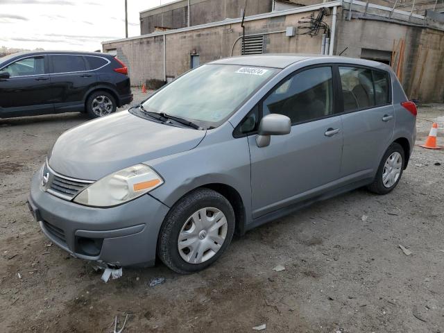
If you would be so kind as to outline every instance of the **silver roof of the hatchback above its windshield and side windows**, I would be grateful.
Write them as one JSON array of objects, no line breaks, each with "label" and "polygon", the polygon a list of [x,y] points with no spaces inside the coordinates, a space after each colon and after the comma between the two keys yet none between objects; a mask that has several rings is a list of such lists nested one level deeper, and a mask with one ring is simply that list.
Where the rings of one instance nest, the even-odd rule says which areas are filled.
[{"label": "silver roof of the hatchback above its windshield and side windows", "polygon": [[302,53],[278,53],[278,54],[268,53],[268,54],[257,54],[252,56],[235,56],[231,58],[215,60],[213,62],[210,62],[210,64],[274,67],[274,68],[284,69],[285,67],[289,67],[290,65],[293,65],[294,63],[300,62],[302,60],[315,60],[319,64],[334,62],[334,63],[354,64],[354,65],[362,65],[362,66],[378,67],[378,68],[384,67],[384,69],[388,69],[387,65],[384,65],[381,62],[376,62],[373,60],[348,58],[340,56],[323,56],[320,54],[302,54]]}]

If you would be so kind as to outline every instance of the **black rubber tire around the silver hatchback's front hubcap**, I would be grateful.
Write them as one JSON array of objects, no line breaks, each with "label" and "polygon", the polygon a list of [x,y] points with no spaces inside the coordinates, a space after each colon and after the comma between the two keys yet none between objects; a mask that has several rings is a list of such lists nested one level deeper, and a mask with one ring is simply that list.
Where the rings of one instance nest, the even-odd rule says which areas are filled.
[{"label": "black rubber tire around the silver hatchback's front hubcap", "polygon": [[[221,248],[207,261],[200,264],[186,262],[178,250],[178,237],[191,214],[204,207],[221,210],[227,220],[227,232]],[[180,274],[201,271],[213,264],[230,244],[234,233],[234,210],[230,202],[221,194],[211,189],[197,189],[181,198],[164,219],[157,241],[157,255],[171,270]]]}]

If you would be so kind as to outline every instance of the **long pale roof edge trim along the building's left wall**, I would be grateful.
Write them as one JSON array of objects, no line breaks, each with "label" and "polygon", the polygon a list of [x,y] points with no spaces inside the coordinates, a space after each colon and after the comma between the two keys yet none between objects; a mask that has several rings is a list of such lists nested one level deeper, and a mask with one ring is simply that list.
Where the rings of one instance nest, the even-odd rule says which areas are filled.
[{"label": "long pale roof edge trim along the building's left wall", "polygon": [[[179,1],[182,1],[182,0],[179,0]],[[278,12],[265,12],[263,14],[258,14],[258,15],[252,15],[252,16],[245,17],[245,22],[255,21],[256,19],[268,19],[270,17],[280,17],[280,16],[285,16],[285,15],[298,14],[299,12],[312,12],[313,10],[318,10],[320,8],[332,8],[332,7],[336,7],[336,6],[341,6],[341,3],[342,3],[341,0],[336,0],[336,1],[326,2],[326,3],[318,3],[316,5],[298,7],[298,8],[287,9],[287,10],[280,10]],[[119,40],[108,40],[108,41],[102,42],[101,44],[109,44],[109,43],[114,43],[114,42],[123,42],[125,40],[138,40],[140,38],[145,38],[145,37],[155,37],[155,36],[170,35],[172,33],[182,33],[182,32],[186,32],[186,31],[195,31],[195,30],[199,30],[199,29],[202,29],[202,28],[212,28],[214,26],[225,26],[227,24],[236,24],[236,23],[241,23],[241,22],[242,22],[242,18],[241,17],[239,17],[237,19],[224,19],[223,21],[206,23],[206,24],[200,24],[198,26],[189,26],[189,27],[180,28],[180,29],[172,29],[172,30],[169,30],[169,31],[160,31],[160,32],[156,32],[156,33],[148,33],[147,35],[140,35],[140,36],[129,37],[129,38],[121,38]]]}]

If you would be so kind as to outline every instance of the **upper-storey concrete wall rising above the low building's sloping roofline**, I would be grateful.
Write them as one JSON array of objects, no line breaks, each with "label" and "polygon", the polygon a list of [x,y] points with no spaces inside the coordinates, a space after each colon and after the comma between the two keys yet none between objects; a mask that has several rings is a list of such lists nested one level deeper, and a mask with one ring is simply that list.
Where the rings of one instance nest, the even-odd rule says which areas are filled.
[{"label": "upper-storey concrete wall rising above the low building's sloping roofline", "polygon": [[[271,12],[272,2],[272,0],[249,0],[246,15]],[[245,0],[191,0],[191,26],[241,17],[241,8],[244,6]],[[157,26],[185,28],[188,22],[187,15],[187,0],[141,12],[141,35],[153,33]]]}]

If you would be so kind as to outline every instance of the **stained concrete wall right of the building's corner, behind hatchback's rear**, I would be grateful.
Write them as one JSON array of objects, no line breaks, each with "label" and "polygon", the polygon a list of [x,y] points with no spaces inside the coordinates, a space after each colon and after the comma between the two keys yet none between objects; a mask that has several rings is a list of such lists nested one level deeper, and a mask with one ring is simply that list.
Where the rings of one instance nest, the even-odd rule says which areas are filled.
[{"label": "stained concrete wall right of the building's corner, behind hatchback's rear", "polygon": [[395,22],[369,19],[345,21],[347,11],[338,24],[335,54],[361,58],[362,49],[392,51],[393,43],[404,39],[402,86],[409,99],[425,102],[444,100],[444,31]]}]

